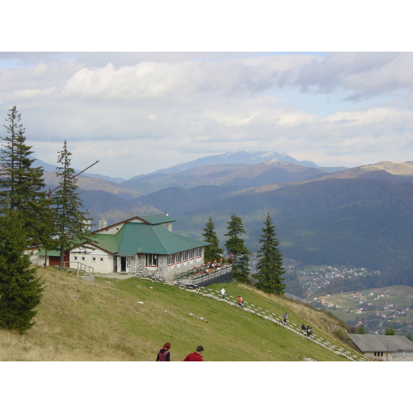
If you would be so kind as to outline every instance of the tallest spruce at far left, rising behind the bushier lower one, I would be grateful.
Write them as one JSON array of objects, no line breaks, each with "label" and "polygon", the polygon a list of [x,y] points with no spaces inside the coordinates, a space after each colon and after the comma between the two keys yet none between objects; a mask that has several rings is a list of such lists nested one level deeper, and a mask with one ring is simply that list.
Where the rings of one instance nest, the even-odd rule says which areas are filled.
[{"label": "tallest spruce at far left, rising behind the bushier lower one", "polygon": [[6,121],[8,135],[2,138],[4,143],[0,149],[0,204],[3,211],[21,212],[29,244],[50,244],[54,219],[43,191],[43,168],[32,166],[32,147],[25,143],[21,114],[15,106]]}]

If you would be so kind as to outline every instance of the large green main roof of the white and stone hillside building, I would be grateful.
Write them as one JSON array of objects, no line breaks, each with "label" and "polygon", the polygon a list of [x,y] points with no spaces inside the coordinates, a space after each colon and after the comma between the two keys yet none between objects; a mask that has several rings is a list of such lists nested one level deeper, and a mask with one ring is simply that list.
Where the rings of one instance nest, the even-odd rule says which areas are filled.
[{"label": "large green main roof of the white and stone hillside building", "polygon": [[94,244],[118,255],[170,255],[207,246],[209,242],[171,233],[162,225],[127,222],[116,235],[97,233]]}]

